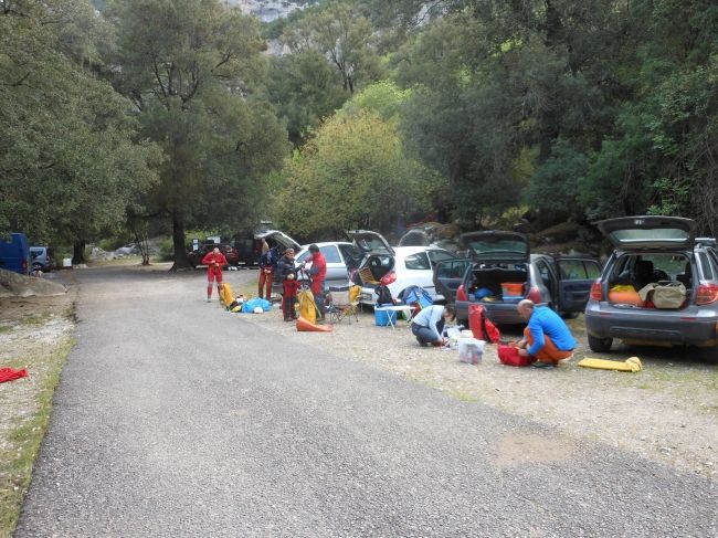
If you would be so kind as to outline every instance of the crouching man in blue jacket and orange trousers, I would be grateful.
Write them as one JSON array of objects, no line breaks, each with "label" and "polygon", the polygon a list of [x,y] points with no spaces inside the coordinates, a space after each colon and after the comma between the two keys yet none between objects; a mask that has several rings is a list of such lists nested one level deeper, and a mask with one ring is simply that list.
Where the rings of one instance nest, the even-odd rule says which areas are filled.
[{"label": "crouching man in blue jacket and orange trousers", "polygon": [[548,306],[536,306],[524,299],[517,306],[519,316],[528,321],[524,338],[514,342],[522,357],[536,357],[531,365],[536,368],[553,367],[573,354],[576,338],[571,335],[561,316]]}]

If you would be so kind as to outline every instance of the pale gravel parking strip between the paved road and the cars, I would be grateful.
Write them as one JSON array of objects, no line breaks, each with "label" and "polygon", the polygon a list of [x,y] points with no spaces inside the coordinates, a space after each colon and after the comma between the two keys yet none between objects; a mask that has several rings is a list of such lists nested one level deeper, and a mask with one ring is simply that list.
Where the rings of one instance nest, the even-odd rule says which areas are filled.
[{"label": "pale gravel parking strip between the paved road and the cars", "polygon": [[[250,291],[250,289],[247,289]],[[585,344],[582,316],[568,323],[580,339],[573,358],[557,369],[501,365],[487,346],[481,365],[458,360],[458,351],[421,348],[405,321],[395,329],[374,326],[373,314],[345,319],[334,331],[297,333],[278,309],[242,316],[252,324],[291,336],[303,344],[335,351],[351,360],[430,386],[466,402],[481,402],[509,413],[629,450],[674,467],[714,476],[718,463],[718,367],[690,351],[617,347],[593,354]],[[504,328],[518,337],[520,328]],[[641,358],[637,373],[578,367],[584,357]]]}]

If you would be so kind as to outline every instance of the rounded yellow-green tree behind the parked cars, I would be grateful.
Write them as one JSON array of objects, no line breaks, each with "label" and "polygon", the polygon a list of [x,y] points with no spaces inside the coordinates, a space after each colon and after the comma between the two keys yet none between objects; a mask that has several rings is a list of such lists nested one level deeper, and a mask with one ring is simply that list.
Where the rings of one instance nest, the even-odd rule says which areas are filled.
[{"label": "rounded yellow-green tree behind the parked cars", "polygon": [[441,178],[408,159],[395,122],[370,110],[325,122],[286,162],[277,193],[282,226],[316,236],[391,229],[397,212],[427,210]]}]

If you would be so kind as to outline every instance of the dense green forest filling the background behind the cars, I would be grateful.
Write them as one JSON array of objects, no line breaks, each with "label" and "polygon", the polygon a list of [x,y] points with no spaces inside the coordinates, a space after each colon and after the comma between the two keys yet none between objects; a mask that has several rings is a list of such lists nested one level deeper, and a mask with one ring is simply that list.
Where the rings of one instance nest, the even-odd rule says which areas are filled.
[{"label": "dense green forest filling the background behind the cars", "polygon": [[[97,9],[99,8],[99,9]],[[0,0],[0,231],[302,238],[680,214],[718,234],[718,4]]]}]

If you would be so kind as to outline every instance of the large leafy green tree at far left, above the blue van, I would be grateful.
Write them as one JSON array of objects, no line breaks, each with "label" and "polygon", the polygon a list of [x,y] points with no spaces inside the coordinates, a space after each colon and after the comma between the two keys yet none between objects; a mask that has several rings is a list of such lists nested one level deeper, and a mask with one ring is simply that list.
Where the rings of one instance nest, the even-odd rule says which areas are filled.
[{"label": "large leafy green tree at far left, above the blue van", "polygon": [[131,104],[93,70],[106,29],[84,0],[0,4],[0,230],[75,245],[156,180]]}]

